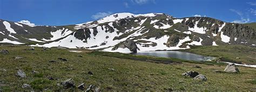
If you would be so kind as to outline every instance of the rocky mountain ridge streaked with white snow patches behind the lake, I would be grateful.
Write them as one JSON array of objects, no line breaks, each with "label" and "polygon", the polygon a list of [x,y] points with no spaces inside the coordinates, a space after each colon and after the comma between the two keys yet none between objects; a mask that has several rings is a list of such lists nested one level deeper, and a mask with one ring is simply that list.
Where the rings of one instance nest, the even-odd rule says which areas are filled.
[{"label": "rocky mountain ridge streaked with white snow patches behind the lake", "polygon": [[127,53],[186,49],[191,45],[254,47],[256,37],[251,27],[208,17],[116,13],[95,22],[68,26],[29,26],[0,20],[1,43]]}]

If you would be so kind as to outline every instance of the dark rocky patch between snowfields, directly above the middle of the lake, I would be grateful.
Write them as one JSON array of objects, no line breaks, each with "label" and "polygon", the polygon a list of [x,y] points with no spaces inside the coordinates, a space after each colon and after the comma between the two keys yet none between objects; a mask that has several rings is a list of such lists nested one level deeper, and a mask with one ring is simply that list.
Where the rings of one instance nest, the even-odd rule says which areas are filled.
[{"label": "dark rocky patch between snowfields, directly above the middle of the lake", "polygon": [[177,46],[178,43],[179,43],[179,36],[173,34],[173,35],[167,40],[166,46],[167,46],[167,47],[173,47],[173,46]]}]

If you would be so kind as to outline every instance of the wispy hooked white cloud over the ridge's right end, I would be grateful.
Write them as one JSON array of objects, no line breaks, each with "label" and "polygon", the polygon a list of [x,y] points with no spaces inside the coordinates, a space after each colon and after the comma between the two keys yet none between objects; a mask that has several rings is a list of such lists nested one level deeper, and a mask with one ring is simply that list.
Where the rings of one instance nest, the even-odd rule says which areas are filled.
[{"label": "wispy hooked white cloud over the ridge's right end", "polygon": [[250,18],[244,18],[244,13],[235,10],[235,9],[230,9],[230,11],[237,13],[237,15],[240,16],[240,19],[234,20],[232,23],[248,23],[250,22]]}]

